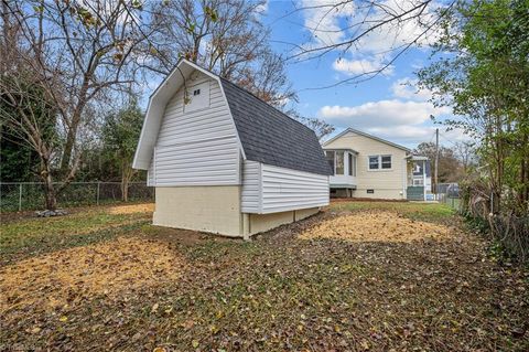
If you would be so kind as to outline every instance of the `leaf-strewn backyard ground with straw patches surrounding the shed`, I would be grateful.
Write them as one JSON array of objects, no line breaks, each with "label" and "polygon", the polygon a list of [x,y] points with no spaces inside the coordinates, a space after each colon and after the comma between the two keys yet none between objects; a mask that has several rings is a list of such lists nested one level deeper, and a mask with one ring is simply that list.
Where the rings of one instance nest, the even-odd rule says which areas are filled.
[{"label": "leaf-strewn backyard ground with straw patches surrounding the shed", "polygon": [[149,211],[2,224],[0,350],[529,350],[527,271],[442,205],[339,202],[249,243]]}]

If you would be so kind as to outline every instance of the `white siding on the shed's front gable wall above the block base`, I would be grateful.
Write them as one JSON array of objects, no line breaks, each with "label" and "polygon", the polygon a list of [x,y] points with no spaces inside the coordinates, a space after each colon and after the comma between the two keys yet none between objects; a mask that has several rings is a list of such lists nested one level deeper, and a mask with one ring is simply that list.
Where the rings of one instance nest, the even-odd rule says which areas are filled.
[{"label": "white siding on the shed's front gable wall above the block base", "polygon": [[209,107],[185,113],[183,88],[169,100],[149,171],[151,183],[156,186],[240,184],[237,132],[218,83],[198,74],[188,85],[198,85],[201,94],[209,94]]}]

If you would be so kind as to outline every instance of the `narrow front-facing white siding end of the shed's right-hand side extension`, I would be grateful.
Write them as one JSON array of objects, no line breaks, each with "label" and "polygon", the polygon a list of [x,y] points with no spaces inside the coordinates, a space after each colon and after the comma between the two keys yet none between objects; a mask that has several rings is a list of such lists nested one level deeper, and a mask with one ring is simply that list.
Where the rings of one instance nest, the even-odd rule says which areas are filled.
[{"label": "narrow front-facing white siding end of the shed's right-hand side extension", "polygon": [[242,163],[241,212],[259,213],[261,195],[261,163],[245,160]]}]

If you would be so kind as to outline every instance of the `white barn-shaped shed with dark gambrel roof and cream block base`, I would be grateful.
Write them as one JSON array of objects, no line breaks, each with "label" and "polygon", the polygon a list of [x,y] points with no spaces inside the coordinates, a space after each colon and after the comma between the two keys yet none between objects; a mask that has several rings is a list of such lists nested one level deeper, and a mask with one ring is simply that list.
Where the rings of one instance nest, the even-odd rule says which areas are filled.
[{"label": "white barn-shaped shed with dark gambrel roof and cream block base", "polygon": [[186,60],[150,98],[133,168],[161,226],[248,237],[328,204],[314,132]]}]

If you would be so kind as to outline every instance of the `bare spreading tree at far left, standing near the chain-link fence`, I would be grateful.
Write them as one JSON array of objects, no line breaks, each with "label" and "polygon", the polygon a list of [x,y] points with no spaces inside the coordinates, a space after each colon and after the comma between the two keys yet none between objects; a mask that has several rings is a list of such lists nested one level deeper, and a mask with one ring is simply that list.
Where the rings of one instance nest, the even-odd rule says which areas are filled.
[{"label": "bare spreading tree at far left, standing near the chain-link fence", "polygon": [[[39,153],[47,209],[77,172],[96,118],[90,105],[134,82],[134,51],[144,40],[134,9],[138,1],[2,1],[2,33],[11,40],[1,50],[14,54],[2,61],[0,116]],[[54,138],[44,134],[50,124]]]}]

